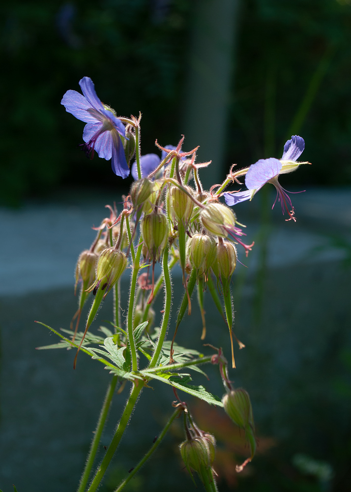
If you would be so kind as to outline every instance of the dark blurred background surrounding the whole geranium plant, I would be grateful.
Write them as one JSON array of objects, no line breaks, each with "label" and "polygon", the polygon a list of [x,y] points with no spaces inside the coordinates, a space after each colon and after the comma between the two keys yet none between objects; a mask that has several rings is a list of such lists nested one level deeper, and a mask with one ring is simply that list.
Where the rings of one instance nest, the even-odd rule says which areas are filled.
[{"label": "dark blurred background surrounding the whole geranium plant", "polygon": [[[292,195],[298,222],[284,222],[279,207],[269,212],[269,189],[235,209],[256,241],[248,260],[239,256],[249,268],[239,266],[233,284],[234,331],[247,346],[236,351],[232,377],[251,395],[259,437],[243,474],[234,472],[247,453],[242,436],[222,411],[189,402],[199,425],[218,436],[221,491],[348,491],[350,2],[12,1],[1,7],[0,22],[1,490],[12,483],[18,492],[75,490],[108,384],[107,371],[84,354],[73,371],[72,351],[33,350],[54,343],[34,319],[68,327],[76,258],[104,205],[118,202],[132,181],[116,178],[97,155],[85,157],[78,147],[84,123],[60,105],[89,76],[118,115],[143,113],[143,154],[157,152],[156,138],[176,144],[181,134],[184,150],[201,145],[199,159],[213,161],[201,174],[206,187],[233,163],[280,157],[292,134],[305,139],[302,158],[313,166],[281,180],[293,191],[307,187]],[[109,302],[93,330],[111,318]],[[208,295],[206,303],[206,341],[229,356],[225,326]],[[201,350],[194,311],[178,341]],[[217,371],[208,374],[209,382],[194,379],[221,396]],[[172,392],[154,387],[141,396],[104,492],[116,488],[171,413]],[[116,396],[102,444],[125,398]],[[192,490],[180,471],[183,438],[175,424],[126,491]]]}]

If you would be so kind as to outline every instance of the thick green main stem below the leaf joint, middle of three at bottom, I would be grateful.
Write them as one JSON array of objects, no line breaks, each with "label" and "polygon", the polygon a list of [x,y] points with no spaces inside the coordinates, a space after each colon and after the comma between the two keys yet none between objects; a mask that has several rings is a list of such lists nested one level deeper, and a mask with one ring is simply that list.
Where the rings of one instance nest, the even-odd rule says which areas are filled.
[{"label": "thick green main stem below the leaf joint, middle of three at bottom", "polygon": [[95,477],[94,477],[93,481],[91,482],[91,485],[88,489],[88,492],[95,492],[96,491],[96,489],[98,488],[98,486],[102,480],[102,477],[104,476],[104,474],[107,470],[108,465],[110,464],[110,461],[112,460],[112,457],[115,454],[115,451],[117,449],[119,441],[121,440],[123,432],[125,431],[125,428],[127,427],[127,424],[129,422],[129,418],[132,414],[132,411],[133,411],[134,405],[138,399],[139,393],[141,392],[141,390],[143,389],[143,386],[144,386],[144,383],[140,380],[137,381],[137,383],[138,384],[134,383],[133,389],[132,389],[130,397],[127,400],[127,403],[125,405],[124,412],[123,412],[122,417],[119,421],[115,435],[111,441],[111,444],[110,444],[108,450],[106,451],[105,458],[102,460],[102,462],[101,462],[101,464],[100,464],[100,466],[99,466],[99,468],[95,474]]}]

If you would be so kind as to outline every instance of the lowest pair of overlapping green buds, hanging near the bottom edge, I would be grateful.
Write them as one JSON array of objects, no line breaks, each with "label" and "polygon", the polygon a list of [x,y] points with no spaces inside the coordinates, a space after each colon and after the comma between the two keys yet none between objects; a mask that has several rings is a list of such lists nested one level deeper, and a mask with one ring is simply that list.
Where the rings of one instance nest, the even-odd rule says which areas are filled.
[{"label": "lowest pair of overlapping green buds, hanging near the bottom edge", "polygon": [[192,470],[196,471],[203,484],[214,484],[212,464],[216,453],[216,440],[212,434],[201,431],[191,419],[185,420],[187,439],[179,446],[180,455],[194,480]]}]

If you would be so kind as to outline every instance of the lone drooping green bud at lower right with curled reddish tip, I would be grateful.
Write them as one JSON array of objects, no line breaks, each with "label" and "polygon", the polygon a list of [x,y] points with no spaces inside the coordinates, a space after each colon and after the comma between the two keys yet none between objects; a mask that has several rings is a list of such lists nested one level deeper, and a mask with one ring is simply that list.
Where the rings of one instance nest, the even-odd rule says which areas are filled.
[{"label": "lone drooping green bud at lower right with curled reddish tip", "polygon": [[252,414],[252,406],[249,394],[242,388],[228,392],[222,398],[224,410],[239,429],[245,431],[245,436],[249,442],[251,457],[245,460],[242,465],[236,466],[236,471],[242,471],[244,466],[253,459],[256,451],[255,424]]}]

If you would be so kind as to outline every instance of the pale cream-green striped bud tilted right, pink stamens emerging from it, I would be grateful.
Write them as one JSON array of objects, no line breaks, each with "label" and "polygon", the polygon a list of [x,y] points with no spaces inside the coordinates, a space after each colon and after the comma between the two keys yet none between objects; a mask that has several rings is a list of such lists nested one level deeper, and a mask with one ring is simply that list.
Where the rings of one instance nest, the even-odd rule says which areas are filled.
[{"label": "pale cream-green striped bud tilted right, pink stamens emerging from it", "polygon": [[200,212],[200,220],[208,232],[223,238],[227,238],[235,226],[234,212],[221,203],[208,203]]}]

